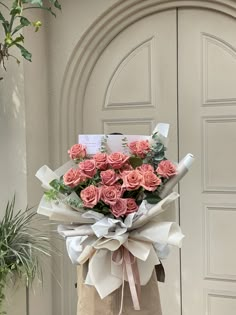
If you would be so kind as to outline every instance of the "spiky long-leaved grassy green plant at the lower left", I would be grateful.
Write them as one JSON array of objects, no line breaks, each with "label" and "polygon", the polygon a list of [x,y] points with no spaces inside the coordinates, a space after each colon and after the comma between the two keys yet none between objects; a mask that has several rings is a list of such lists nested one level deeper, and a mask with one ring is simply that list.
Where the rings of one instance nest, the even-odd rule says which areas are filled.
[{"label": "spiky long-leaved grassy green plant at the lower left", "polygon": [[[52,249],[46,232],[36,228],[39,217],[33,209],[14,211],[15,198],[8,202],[0,221],[0,314],[4,312],[5,289],[17,282],[28,288],[42,279],[40,259]],[[37,223],[37,224],[35,224]]]}]

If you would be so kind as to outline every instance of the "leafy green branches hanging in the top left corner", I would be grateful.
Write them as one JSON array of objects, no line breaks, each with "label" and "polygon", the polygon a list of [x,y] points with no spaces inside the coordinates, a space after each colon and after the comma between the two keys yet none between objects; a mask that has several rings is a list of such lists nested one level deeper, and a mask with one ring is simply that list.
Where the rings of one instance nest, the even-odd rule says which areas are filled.
[{"label": "leafy green branches hanging in the top left corner", "polygon": [[41,21],[31,21],[25,16],[27,10],[33,9],[46,10],[56,16],[54,9],[61,10],[61,5],[58,0],[14,0],[11,6],[0,1],[0,22],[4,33],[3,40],[0,40],[0,65],[5,70],[5,61],[9,57],[14,58],[17,63],[20,62],[10,53],[12,47],[17,47],[22,57],[31,61],[32,54],[24,47],[24,36],[21,31],[25,27],[33,26],[37,32],[41,27]]}]

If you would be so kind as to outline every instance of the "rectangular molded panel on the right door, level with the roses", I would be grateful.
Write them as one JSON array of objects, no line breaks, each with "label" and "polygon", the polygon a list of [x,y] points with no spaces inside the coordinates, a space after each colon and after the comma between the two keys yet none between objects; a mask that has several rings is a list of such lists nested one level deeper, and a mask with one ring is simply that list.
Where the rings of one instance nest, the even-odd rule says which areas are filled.
[{"label": "rectangular molded panel on the right door, level with the roses", "polygon": [[[217,115],[202,117],[202,192],[203,193],[222,193],[235,194],[235,176],[236,172],[231,169],[230,165],[234,164],[234,155],[232,143],[234,143],[234,130],[236,130],[235,115]],[[217,133],[217,134],[216,134]],[[226,140],[222,143],[219,152],[217,148],[217,135],[222,135]],[[223,161],[224,153],[227,152],[227,165],[224,172],[216,166],[217,159]],[[215,154],[214,154],[215,153]]]}]

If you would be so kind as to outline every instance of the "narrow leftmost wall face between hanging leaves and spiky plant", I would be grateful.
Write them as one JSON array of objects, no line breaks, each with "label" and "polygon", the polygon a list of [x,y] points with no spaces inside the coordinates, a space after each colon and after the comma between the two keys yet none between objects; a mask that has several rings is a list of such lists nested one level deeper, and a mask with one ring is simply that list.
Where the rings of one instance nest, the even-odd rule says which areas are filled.
[{"label": "narrow leftmost wall face between hanging leaves and spiky plant", "polygon": [[[27,204],[24,68],[23,63],[18,66],[13,59],[6,67],[7,72],[0,70],[0,76],[4,77],[0,81],[0,217],[14,194],[16,208]],[[24,314],[25,289],[8,291],[6,305],[9,314]]]}]

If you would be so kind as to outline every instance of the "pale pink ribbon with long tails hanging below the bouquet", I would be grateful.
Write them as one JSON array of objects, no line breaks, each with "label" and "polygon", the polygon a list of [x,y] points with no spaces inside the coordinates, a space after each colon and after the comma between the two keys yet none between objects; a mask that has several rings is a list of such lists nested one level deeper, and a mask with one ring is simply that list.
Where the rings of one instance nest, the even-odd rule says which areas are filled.
[{"label": "pale pink ribbon with long tails hanging below the bouquet", "polygon": [[124,273],[126,272],[133,306],[136,311],[140,311],[141,285],[136,257],[124,246],[118,248],[112,255],[112,261],[123,267],[121,307],[119,315],[122,313],[124,300]]}]

